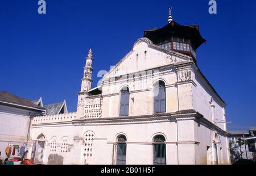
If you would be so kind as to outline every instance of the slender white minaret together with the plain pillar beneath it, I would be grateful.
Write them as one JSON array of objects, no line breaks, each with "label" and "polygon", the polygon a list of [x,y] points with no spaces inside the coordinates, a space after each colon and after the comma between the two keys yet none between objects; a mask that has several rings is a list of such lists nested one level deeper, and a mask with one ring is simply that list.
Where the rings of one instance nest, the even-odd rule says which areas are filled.
[{"label": "slender white minaret together with the plain pillar beneath it", "polygon": [[86,64],[84,67],[84,76],[82,77],[82,83],[81,83],[81,91],[79,93],[79,97],[77,100],[77,112],[81,114],[81,116],[84,115],[84,98],[89,96],[88,91],[92,87],[92,62],[93,62],[93,54],[92,49],[89,50],[88,56],[85,58]]}]

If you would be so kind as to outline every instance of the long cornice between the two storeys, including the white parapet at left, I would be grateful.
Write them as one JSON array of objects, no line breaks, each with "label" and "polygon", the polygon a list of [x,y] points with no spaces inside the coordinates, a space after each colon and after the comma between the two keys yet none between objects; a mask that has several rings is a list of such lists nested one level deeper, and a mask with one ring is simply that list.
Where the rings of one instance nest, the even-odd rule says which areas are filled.
[{"label": "long cornice between the two storeys, including the white parapet at left", "polygon": [[[41,116],[32,119],[32,127],[59,126],[59,125],[118,125],[118,124],[139,124],[139,123],[163,123],[179,120],[195,120],[197,123],[205,125],[207,128],[216,131],[224,136],[229,133],[218,127],[216,124],[204,118],[195,110],[183,110],[171,113],[161,113],[141,116],[127,116],[115,118],[85,118],[77,117],[76,113],[56,116]],[[73,117],[73,118],[72,118]],[[55,120],[53,120],[55,119]],[[60,121],[59,121],[60,120]],[[63,121],[62,121],[63,120]]]}]

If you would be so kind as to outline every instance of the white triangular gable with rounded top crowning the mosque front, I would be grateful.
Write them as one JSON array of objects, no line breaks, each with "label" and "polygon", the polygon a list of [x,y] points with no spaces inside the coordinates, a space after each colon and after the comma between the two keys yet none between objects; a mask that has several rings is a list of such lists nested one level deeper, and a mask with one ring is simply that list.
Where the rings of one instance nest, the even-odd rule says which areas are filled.
[{"label": "white triangular gable with rounded top crowning the mosque front", "polygon": [[104,76],[104,79],[186,61],[191,61],[191,57],[162,49],[144,37],[136,41],[133,49]]}]

